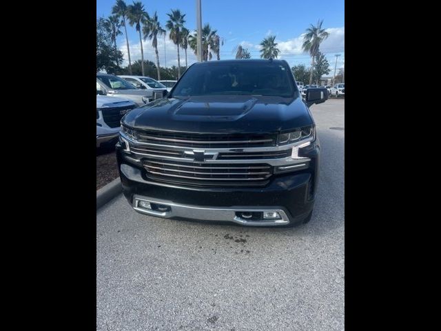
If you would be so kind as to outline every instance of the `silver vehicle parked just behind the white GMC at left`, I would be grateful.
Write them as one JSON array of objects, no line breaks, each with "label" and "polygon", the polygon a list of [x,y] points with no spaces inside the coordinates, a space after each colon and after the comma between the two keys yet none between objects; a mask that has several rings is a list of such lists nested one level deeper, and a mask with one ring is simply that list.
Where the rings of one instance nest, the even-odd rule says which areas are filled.
[{"label": "silver vehicle parked just behind the white GMC at left", "polygon": [[152,100],[153,90],[140,90],[112,74],[96,74],[96,94],[130,99],[136,106],[143,106]]}]

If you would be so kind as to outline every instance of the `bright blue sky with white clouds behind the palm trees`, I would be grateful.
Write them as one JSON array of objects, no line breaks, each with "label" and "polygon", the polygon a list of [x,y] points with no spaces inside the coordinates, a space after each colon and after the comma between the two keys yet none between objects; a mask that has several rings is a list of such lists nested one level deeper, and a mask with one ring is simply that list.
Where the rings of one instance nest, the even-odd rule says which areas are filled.
[{"label": "bright blue sky with white clouds behind the palm trees", "polygon": [[[189,30],[196,29],[196,0],[141,0],[149,14],[158,12],[159,21],[165,26],[167,12],[179,9],[186,14],[185,26]],[[108,17],[112,14],[115,0],[96,0],[96,16]],[[132,1],[126,0],[127,5]],[[259,43],[269,34],[276,35],[277,48],[280,50],[278,59],[285,59],[289,66],[305,64],[310,66],[309,54],[302,52],[303,37],[309,25],[323,20],[322,28],[329,32],[329,37],[320,45],[334,74],[337,62],[339,68],[345,67],[345,1],[344,0],[201,0],[202,23],[209,23],[223,39],[220,48],[220,59],[234,59],[234,48],[239,44],[247,48],[254,59],[260,58]],[[117,46],[124,54],[123,66],[127,65],[127,46],[125,35],[117,39]],[[134,27],[127,24],[130,44],[130,57],[133,61],[141,59],[139,34]],[[165,47],[164,47],[165,42]],[[144,59],[154,61],[156,56],[152,41],[143,41]],[[168,34],[158,40],[160,66],[177,66],[176,46],[170,41]],[[185,56],[181,53],[181,66],[185,66]],[[336,58],[335,54],[341,54]],[[187,49],[188,65],[196,62],[193,51]],[[215,56],[214,56],[215,59]]]}]

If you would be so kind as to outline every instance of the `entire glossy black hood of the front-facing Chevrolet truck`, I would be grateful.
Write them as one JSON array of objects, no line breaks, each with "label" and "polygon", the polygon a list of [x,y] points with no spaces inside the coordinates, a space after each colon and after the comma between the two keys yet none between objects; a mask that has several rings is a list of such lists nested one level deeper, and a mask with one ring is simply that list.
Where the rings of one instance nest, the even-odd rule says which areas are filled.
[{"label": "entire glossy black hood of the front-facing Chevrolet truck", "polygon": [[271,133],[314,123],[301,98],[209,96],[158,99],[132,110],[125,124],[192,133]]}]

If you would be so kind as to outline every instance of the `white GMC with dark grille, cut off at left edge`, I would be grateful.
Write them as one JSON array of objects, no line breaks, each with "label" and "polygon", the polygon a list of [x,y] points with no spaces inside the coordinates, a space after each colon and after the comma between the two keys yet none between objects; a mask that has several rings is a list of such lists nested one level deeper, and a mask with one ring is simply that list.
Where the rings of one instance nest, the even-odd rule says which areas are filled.
[{"label": "white GMC with dark grille, cut off at left edge", "polygon": [[96,147],[115,145],[121,118],[134,108],[128,99],[96,95]]}]

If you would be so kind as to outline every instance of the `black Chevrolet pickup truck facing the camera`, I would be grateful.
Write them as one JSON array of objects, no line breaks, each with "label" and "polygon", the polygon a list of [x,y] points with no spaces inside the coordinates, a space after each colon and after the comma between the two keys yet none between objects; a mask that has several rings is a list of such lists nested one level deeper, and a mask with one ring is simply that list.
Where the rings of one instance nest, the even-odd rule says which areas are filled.
[{"label": "black Chevrolet pickup truck facing the camera", "polygon": [[292,226],[311,219],[320,145],[313,103],[286,61],[194,63],[125,114],[117,159],[134,210],[172,219]]}]

